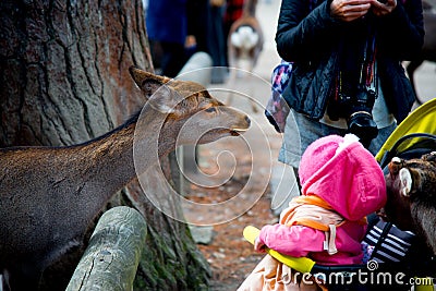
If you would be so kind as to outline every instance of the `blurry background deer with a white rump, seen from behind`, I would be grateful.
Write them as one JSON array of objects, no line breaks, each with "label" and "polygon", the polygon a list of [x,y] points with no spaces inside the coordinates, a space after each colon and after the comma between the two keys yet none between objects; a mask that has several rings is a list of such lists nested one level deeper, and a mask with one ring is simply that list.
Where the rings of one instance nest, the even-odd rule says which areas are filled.
[{"label": "blurry background deer with a white rump, seen from behind", "polygon": [[[256,5],[257,0],[244,1],[242,15],[230,26],[227,39],[229,66],[245,69],[249,73],[253,73],[264,46],[264,34],[255,14]],[[243,68],[243,62],[246,68]],[[231,70],[229,77],[231,84],[235,83],[237,74],[235,70]],[[231,102],[232,94],[230,93],[226,104]],[[257,112],[257,107],[253,101],[252,110]]]}]

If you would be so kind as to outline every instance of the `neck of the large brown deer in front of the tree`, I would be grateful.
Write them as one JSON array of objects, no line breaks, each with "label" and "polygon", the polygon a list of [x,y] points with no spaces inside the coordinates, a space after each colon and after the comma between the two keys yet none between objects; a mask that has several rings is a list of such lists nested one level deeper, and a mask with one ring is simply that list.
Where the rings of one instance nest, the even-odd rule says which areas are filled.
[{"label": "neck of the large brown deer in front of the tree", "polygon": [[162,120],[165,114],[148,110],[140,120],[123,124],[85,145],[83,150],[92,153],[90,160],[99,165],[94,171],[94,179],[105,185],[108,194],[122,189],[173,149],[173,138],[159,138]]}]

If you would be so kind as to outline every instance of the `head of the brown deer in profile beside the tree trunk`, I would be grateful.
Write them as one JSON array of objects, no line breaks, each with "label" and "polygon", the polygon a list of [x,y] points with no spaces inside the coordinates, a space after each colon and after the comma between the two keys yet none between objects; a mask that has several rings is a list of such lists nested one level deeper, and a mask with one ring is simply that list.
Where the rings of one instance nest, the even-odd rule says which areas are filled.
[{"label": "head of the brown deer in profile beside the tree trunk", "polygon": [[250,128],[246,114],[225,106],[197,83],[170,80],[134,66],[130,73],[154,114],[164,114],[159,143],[204,144]]}]

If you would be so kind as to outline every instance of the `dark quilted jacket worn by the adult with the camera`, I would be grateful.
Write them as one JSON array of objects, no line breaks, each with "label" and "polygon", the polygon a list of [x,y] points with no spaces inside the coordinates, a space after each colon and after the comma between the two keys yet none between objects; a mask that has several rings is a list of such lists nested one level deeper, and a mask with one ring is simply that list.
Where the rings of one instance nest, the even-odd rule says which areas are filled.
[{"label": "dark quilted jacket worn by the adult with the camera", "polygon": [[[332,0],[283,0],[276,33],[277,51],[293,62],[283,97],[296,112],[319,120],[335,89],[338,49],[349,23],[330,16]],[[410,112],[415,95],[401,61],[411,60],[424,41],[421,0],[397,0],[395,10],[375,17],[377,70],[390,112],[400,123]]]}]

